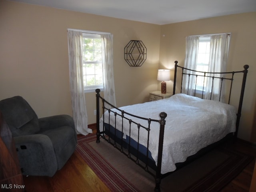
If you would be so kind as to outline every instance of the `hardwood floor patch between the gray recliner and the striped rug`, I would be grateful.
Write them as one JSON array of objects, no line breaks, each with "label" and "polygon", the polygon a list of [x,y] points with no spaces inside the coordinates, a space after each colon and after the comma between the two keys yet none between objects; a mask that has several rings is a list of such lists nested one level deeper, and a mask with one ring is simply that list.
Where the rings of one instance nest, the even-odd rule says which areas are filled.
[{"label": "hardwood floor patch between the gray recliner and the striped rug", "polygon": [[52,178],[28,176],[23,179],[26,192],[110,192],[76,152]]}]

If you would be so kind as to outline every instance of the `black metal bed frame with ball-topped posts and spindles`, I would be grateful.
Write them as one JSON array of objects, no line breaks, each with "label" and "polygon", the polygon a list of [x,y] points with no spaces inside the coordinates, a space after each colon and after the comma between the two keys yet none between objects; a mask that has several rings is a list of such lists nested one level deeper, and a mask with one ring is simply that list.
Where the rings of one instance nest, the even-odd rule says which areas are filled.
[{"label": "black metal bed frame with ball-topped posts and spindles", "polygon": [[[194,70],[191,70],[192,73],[184,73],[184,70],[189,70],[187,68],[184,67],[180,67],[178,66],[178,62],[175,61],[175,74],[174,74],[174,88],[173,88],[173,94],[175,94],[175,88],[176,88],[176,78],[177,78],[177,68],[181,68],[182,69],[182,78],[183,75],[194,75]],[[227,72],[227,73],[231,73],[232,74],[232,78],[223,78],[223,79],[228,79],[231,80],[231,82],[233,83],[233,77],[234,74],[236,73],[243,73],[243,80],[242,80],[242,88],[241,88],[241,94],[240,94],[240,100],[239,100],[239,106],[238,106],[238,113],[237,113],[237,120],[236,120],[236,132],[234,134],[235,138],[237,137],[237,132],[238,132],[238,126],[239,126],[239,121],[240,121],[240,116],[241,116],[241,110],[242,110],[242,102],[243,102],[243,97],[244,97],[244,88],[245,88],[245,83],[246,83],[246,76],[247,76],[247,72],[248,72],[248,65],[244,66],[244,70],[243,71],[237,71],[237,72]],[[208,72],[204,72],[204,77],[208,77],[208,74],[218,74],[218,73],[208,73]],[[216,78],[214,76],[210,76],[213,79]],[[222,80],[223,80],[222,79]],[[231,87],[230,87],[230,94],[231,94],[231,89],[232,89],[232,83],[231,83]],[[182,86],[181,86],[181,90],[182,90]],[[131,124],[136,124],[137,128],[138,128],[138,140],[136,141],[138,143],[137,147],[134,148],[131,146],[130,144],[130,139],[129,139],[129,143],[128,146],[124,147],[125,143],[123,138],[119,139],[119,142],[116,142],[117,135],[116,135],[116,122],[115,122],[115,127],[114,127],[114,135],[112,135],[112,137],[110,136],[106,136],[105,134],[105,128],[103,126],[103,131],[100,131],[100,100],[102,101],[102,114],[103,114],[103,120],[105,120],[104,118],[104,112],[108,111],[108,122],[106,122],[109,125],[110,122],[110,113],[113,113],[115,116],[115,121],[116,121],[116,117],[120,116],[122,118],[122,134],[123,134],[123,121],[127,120],[130,124],[130,132],[131,132]],[[229,102],[230,102],[230,95],[229,95]],[[109,107],[106,106],[106,104],[108,104]],[[140,167],[142,167],[146,172],[150,173],[152,176],[155,177],[155,188],[154,191],[155,192],[160,192],[160,182],[161,179],[164,178],[164,175],[167,174],[161,174],[161,167],[162,167],[162,151],[163,151],[163,142],[164,142],[164,126],[166,124],[166,116],[167,114],[165,112],[161,112],[160,113],[160,119],[156,120],[156,119],[151,119],[151,118],[144,118],[141,116],[136,116],[133,114],[130,114],[128,112],[125,112],[124,110],[120,110],[119,108],[117,108],[116,106],[113,106],[112,104],[110,104],[108,101],[106,101],[104,98],[102,98],[100,96],[100,89],[96,89],[96,125],[97,125],[97,133],[96,133],[96,142],[99,143],[100,142],[100,137],[103,138],[104,140],[108,141],[110,144],[112,144],[115,148],[117,148],[118,150],[120,150],[120,152],[122,152],[123,154],[125,154],[128,158],[130,158],[132,161],[134,161],[136,164],[138,164]],[[118,112],[114,112],[112,109],[116,109]],[[135,118],[139,118],[139,119],[143,119],[145,121],[148,121],[148,126],[142,126],[140,124],[138,124],[137,122],[134,122],[133,120],[130,119],[130,117],[128,118],[127,116],[132,116]],[[154,170],[150,169],[152,167],[149,166],[149,135],[150,135],[150,124],[151,122],[159,122],[160,124],[160,133],[159,133],[159,145],[158,145],[158,160],[157,160],[157,165],[156,168]],[[105,122],[103,122],[104,124]],[[146,146],[146,161],[142,161],[140,160],[141,154],[139,152],[139,136],[140,136],[140,128],[145,129],[148,132],[148,140],[147,140],[147,146]],[[129,135],[130,138],[130,135]],[[126,143],[127,144],[127,143]],[[155,172],[154,172],[155,171]]]}]

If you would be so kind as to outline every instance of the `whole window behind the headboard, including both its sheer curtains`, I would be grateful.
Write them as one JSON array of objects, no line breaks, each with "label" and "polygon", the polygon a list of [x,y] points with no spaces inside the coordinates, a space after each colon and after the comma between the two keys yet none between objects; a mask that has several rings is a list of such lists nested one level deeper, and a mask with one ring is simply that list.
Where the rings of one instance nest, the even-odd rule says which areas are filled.
[{"label": "whole window behind the headboard, including both its sheer curtains", "polygon": [[[229,42],[230,33],[186,37],[184,67],[200,72],[195,74],[185,70],[187,75],[182,80],[183,93],[193,96],[200,94],[212,100],[224,99],[224,94],[221,94],[225,93],[225,84],[222,83],[224,74],[220,72],[226,71]],[[204,76],[204,72],[216,74],[212,78],[208,74]]]}]

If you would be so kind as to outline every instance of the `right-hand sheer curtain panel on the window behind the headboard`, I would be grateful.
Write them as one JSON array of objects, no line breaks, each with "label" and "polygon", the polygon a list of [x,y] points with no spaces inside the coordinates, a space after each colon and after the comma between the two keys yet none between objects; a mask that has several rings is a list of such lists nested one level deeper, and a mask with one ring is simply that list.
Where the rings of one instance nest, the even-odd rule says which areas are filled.
[{"label": "right-hand sheer curtain panel on the window behind the headboard", "polygon": [[[210,39],[210,61],[208,72],[226,72],[226,63],[228,59],[230,34],[217,34],[212,35]],[[223,74],[217,74],[217,77],[224,78]],[[221,90],[220,90],[221,89]],[[212,93],[211,93],[212,92]],[[221,94],[220,94],[221,92]],[[221,79],[214,78],[207,81],[206,86],[206,99],[224,101],[225,82],[221,85]],[[212,94],[212,96],[211,96]]]}]

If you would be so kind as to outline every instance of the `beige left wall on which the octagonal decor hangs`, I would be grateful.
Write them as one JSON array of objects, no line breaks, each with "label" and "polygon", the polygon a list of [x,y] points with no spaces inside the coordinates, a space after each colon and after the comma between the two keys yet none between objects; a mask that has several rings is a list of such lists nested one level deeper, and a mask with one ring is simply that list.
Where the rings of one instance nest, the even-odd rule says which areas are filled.
[{"label": "beige left wall on which the octagonal decor hangs", "polygon": [[[112,33],[117,105],[148,101],[157,89],[159,25],[5,0],[0,1],[0,100],[21,95],[39,117],[72,114],[68,28]],[[147,48],[141,67],[124,60],[130,40],[142,40]],[[95,100],[95,93],[86,94],[89,124],[96,122]]]}]

